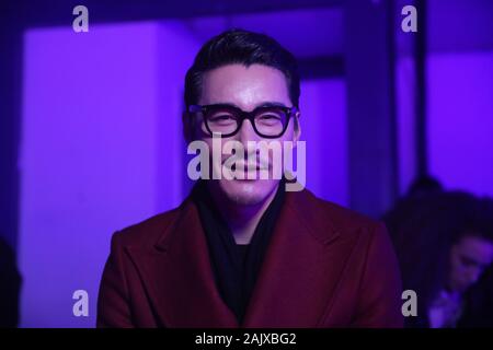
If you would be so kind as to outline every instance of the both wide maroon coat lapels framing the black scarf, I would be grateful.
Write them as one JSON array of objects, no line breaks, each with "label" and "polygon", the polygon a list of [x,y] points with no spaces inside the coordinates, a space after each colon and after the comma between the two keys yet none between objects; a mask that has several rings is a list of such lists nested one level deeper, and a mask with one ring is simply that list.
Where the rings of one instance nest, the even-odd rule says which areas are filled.
[{"label": "both wide maroon coat lapels framing the black scarf", "polygon": [[150,250],[127,248],[162,326],[317,327],[330,311],[353,246],[341,238],[320,202],[308,190],[286,192],[239,325],[216,288],[198,212],[187,198]]}]

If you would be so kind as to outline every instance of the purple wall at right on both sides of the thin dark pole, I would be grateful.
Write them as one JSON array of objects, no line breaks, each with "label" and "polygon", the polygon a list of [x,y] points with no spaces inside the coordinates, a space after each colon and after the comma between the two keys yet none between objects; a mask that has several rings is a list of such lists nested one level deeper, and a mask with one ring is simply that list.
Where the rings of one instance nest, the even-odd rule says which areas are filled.
[{"label": "purple wall at right on both sides of the thin dark pole", "polygon": [[[419,12],[419,31],[423,30],[420,20],[423,24]],[[446,188],[492,196],[493,2],[426,1],[424,30],[424,91],[417,86],[412,57],[416,36],[402,32],[395,36],[400,194],[405,194],[417,173],[414,102],[424,92],[429,174]]]}]

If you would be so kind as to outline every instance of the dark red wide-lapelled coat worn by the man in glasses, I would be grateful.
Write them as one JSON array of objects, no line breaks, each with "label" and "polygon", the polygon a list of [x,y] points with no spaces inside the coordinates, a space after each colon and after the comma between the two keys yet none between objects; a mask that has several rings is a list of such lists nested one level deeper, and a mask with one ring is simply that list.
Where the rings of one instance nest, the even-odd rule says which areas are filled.
[{"label": "dark red wide-lapelled coat worn by the man in glasses", "polygon": [[[398,262],[382,224],[286,192],[242,327],[401,327]],[[197,209],[114,234],[99,327],[238,327],[216,288]]]}]

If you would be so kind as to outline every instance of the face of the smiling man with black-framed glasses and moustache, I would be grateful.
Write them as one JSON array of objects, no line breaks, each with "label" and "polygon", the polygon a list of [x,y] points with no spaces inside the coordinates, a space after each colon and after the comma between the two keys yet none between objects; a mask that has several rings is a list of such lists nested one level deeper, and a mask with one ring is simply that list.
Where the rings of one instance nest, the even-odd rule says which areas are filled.
[{"label": "face of the smiling man with black-framed glasses and moustache", "polygon": [[[283,72],[261,65],[252,65],[248,68],[242,65],[229,65],[207,72],[203,79],[202,96],[198,104],[229,104],[244,112],[251,112],[265,104],[293,106]],[[290,118],[286,132],[274,140],[296,142],[299,138],[299,128],[295,131],[294,124],[294,118]],[[207,133],[197,131],[197,138],[207,142],[209,150],[213,150],[213,138]],[[264,139],[256,135],[249,120],[243,121],[237,135],[223,138],[221,143],[223,144],[229,140],[241,142],[245,154],[248,154],[246,145],[249,141],[273,141],[273,139]],[[230,154],[222,154],[221,164],[230,156]],[[217,168],[221,164],[211,164],[211,166]],[[259,159],[257,164],[259,166],[268,166],[272,170],[272,156]],[[262,203],[279,183],[272,176],[270,176],[270,179],[260,179],[259,176],[256,176],[256,179],[246,179],[246,177],[248,172],[244,172],[245,179],[226,179],[221,176],[221,179],[210,182],[210,188],[221,191],[232,202],[252,206]]]}]

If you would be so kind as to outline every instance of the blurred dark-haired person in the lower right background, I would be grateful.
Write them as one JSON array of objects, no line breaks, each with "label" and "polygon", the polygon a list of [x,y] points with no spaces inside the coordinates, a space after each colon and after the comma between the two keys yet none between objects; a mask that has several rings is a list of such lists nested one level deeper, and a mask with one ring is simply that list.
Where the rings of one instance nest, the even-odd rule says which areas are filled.
[{"label": "blurred dark-haired person in the lower right background", "polygon": [[409,197],[387,213],[403,289],[417,294],[417,317],[406,326],[460,326],[471,287],[493,261],[492,218],[483,201],[459,191]]}]

